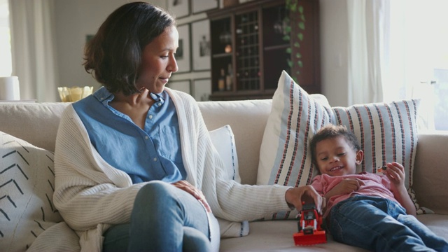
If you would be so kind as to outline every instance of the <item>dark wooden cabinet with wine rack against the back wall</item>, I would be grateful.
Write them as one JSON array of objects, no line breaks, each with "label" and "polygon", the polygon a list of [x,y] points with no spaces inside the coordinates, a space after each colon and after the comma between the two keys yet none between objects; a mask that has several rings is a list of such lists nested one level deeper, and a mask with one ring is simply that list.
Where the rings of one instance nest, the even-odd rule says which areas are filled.
[{"label": "dark wooden cabinet with wine rack against the back wall", "polygon": [[[295,76],[307,92],[320,92],[318,0],[300,0],[306,28],[299,51],[288,53],[294,41],[283,40],[284,0],[258,0],[207,13],[211,34],[211,100],[269,99],[281,71]],[[295,25],[292,25],[293,33]],[[296,36],[292,36],[295,39]],[[288,66],[288,59],[300,53],[300,74]],[[224,72],[224,76],[222,76]],[[229,76],[230,73],[230,76]],[[226,84],[223,85],[222,78]],[[226,78],[227,77],[227,78]]]}]

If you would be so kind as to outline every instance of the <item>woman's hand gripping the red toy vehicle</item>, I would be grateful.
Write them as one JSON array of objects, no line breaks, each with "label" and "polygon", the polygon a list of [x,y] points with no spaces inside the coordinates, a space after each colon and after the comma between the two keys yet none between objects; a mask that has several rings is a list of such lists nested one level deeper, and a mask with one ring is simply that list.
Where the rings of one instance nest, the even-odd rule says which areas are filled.
[{"label": "woman's hand gripping the red toy vehicle", "polygon": [[321,197],[312,186],[300,186],[286,190],[286,202],[293,205],[297,210],[302,209],[302,202],[316,204],[317,211],[322,214],[325,209],[325,198]]}]

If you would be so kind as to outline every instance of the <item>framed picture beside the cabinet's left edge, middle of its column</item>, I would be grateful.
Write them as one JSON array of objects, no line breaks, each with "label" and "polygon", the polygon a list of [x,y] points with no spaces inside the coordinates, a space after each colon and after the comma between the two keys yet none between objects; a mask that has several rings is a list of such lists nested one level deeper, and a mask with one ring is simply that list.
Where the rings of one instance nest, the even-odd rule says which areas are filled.
[{"label": "framed picture beside the cabinet's left edge, middle of its column", "polygon": [[209,20],[200,20],[191,24],[193,70],[195,71],[210,69],[211,45],[209,27]]}]

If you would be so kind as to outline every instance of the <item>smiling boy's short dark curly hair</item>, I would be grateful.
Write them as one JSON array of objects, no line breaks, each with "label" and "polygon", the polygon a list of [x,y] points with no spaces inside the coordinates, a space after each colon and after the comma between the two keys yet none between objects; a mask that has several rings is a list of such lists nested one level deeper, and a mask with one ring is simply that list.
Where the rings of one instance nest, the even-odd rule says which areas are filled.
[{"label": "smiling boy's short dark curly hair", "polygon": [[315,166],[317,166],[317,157],[316,157],[316,145],[318,142],[332,139],[334,137],[344,137],[345,141],[349,143],[351,148],[355,151],[360,151],[361,146],[358,143],[358,139],[356,139],[355,134],[353,132],[347,130],[344,125],[326,125],[322,127],[321,130],[312,137],[309,142],[309,148],[311,150],[311,160]]}]

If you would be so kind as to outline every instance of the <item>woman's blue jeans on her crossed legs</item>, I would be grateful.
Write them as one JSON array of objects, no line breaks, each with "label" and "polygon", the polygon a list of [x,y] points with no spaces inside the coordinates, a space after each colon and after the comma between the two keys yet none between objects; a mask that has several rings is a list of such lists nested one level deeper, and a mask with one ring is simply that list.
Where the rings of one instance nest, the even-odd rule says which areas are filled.
[{"label": "woman's blue jeans on her crossed legs", "polygon": [[104,232],[103,251],[210,251],[207,211],[189,193],[151,181],[137,193],[131,223]]}]

